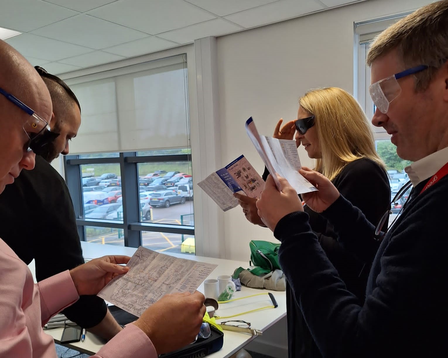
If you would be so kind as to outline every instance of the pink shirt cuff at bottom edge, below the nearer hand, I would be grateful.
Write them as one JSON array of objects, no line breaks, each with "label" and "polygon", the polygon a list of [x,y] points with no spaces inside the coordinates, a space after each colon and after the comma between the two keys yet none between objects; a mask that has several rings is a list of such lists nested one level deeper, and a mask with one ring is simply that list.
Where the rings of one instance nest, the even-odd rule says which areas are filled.
[{"label": "pink shirt cuff at bottom edge, below the nearer hand", "polygon": [[[132,342],[132,344],[129,344]],[[134,324],[113,337],[92,358],[157,358],[151,340]]]}]

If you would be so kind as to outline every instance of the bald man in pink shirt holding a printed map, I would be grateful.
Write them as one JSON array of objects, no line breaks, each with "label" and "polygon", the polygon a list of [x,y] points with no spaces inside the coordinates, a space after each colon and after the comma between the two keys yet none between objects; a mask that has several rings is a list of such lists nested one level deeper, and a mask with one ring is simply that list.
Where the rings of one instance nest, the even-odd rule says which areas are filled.
[{"label": "bald man in pink shirt holding a printed map", "polygon": [[[50,94],[39,74],[0,40],[0,193],[22,169],[34,168],[32,149],[45,143],[51,119]],[[128,256],[103,256],[34,284],[26,264],[0,239],[0,358],[55,358],[53,339],[42,326],[79,295],[97,294],[126,273],[120,264],[128,261]],[[199,332],[203,303],[199,292],[165,295],[94,357],[156,358],[181,348]]]}]

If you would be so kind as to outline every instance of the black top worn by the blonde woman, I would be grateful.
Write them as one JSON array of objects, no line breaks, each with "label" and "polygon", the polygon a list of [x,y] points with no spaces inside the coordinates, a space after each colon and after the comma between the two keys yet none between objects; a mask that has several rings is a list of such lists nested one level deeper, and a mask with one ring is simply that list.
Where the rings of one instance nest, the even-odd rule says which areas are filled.
[{"label": "black top worn by the blonde woman", "polygon": [[[265,169],[264,180],[268,174],[269,171]],[[367,219],[375,225],[384,212],[389,209],[391,196],[387,173],[369,159],[362,158],[347,164],[333,179],[333,184],[341,195],[361,209]],[[336,267],[349,290],[363,301],[370,264],[378,246],[370,247],[367,250],[367,257],[357,257],[356,253],[346,250],[343,244],[338,242],[338,235],[325,217],[315,213],[308,206],[305,206],[304,210],[309,215],[310,227],[316,234],[328,259]],[[345,219],[341,218],[341,220]],[[289,357],[320,357],[319,349],[310,336],[289,285],[287,285],[286,291]]]}]

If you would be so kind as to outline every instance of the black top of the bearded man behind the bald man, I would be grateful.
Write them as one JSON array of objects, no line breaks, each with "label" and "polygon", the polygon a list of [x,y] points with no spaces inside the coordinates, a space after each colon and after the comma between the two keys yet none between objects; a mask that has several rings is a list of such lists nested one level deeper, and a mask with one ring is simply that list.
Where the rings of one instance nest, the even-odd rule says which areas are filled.
[{"label": "black top of the bearded man behind the bald man", "polygon": [[[84,263],[69,189],[59,173],[36,155],[33,170],[22,170],[0,195],[0,238],[26,264],[35,259],[41,281]],[[107,312],[98,296],[81,296],[64,314],[83,328]]]}]

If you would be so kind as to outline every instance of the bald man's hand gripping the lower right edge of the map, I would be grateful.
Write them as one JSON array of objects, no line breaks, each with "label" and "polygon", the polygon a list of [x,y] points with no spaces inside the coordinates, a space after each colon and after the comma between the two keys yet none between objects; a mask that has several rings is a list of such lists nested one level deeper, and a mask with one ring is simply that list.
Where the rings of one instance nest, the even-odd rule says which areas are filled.
[{"label": "bald man's hand gripping the lower right edge of the map", "polygon": [[157,354],[172,352],[194,342],[205,315],[204,300],[198,291],[166,294],[133,324],[151,339]]}]

